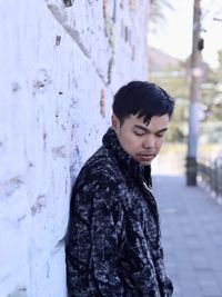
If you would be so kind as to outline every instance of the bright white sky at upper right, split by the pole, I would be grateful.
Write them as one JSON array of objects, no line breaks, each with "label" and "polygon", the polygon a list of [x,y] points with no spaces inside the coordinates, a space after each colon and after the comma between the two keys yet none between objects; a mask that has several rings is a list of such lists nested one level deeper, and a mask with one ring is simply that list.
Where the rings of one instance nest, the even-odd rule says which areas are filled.
[{"label": "bright white sky at upper right, split by the pole", "polygon": [[[184,59],[191,55],[193,0],[169,0],[173,10],[164,8],[165,21],[158,32],[149,33],[149,44],[167,53]],[[221,0],[202,0],[202,38],[204,49],[203,60],[212,68],[218,66],[218,50],[222,49],[222,19]]]}]

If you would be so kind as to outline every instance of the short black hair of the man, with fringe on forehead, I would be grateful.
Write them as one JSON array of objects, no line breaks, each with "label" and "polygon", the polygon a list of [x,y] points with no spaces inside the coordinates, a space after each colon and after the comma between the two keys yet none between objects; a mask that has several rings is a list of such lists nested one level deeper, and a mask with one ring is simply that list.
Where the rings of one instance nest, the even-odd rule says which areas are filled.
[{"label": "short black hair of the man, with fringe on forehead", "polygon": [[153,116],[169,115],[171,118],[174,108],[173,98],[155,83],[148,81],[131,81],[121,87],[114,95],[113,113],[121,123],[130,115],[144,117],[149,123]]}]

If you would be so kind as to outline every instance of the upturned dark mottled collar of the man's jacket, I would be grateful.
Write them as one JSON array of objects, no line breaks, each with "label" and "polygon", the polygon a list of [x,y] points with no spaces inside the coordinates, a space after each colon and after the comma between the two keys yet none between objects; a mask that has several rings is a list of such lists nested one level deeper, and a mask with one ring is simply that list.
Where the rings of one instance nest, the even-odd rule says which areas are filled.
[{"label": "upturned dark mottled collar of the man's jacket", "polygon": [[145,181],[149,188],[152,187],[151,166],[140,165],[124,151],[112,127],[110,127],[103,136],[102,143],[112,152],[112,155],[114,155],[119,164],[134,176],[134,178],[139,179],[140,182]]}]

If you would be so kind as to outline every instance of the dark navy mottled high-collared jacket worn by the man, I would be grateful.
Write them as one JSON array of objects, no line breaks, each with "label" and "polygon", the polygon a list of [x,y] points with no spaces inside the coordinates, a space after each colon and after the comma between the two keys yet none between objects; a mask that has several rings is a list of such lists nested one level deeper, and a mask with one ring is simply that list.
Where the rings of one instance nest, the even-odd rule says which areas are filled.
[{"label": "dark navy mottled high-collared jacket worn by the man", "polygon": [[142,167],[110,128],[72,190],[67,237],[69,296],[168,297],[159,214]]}]

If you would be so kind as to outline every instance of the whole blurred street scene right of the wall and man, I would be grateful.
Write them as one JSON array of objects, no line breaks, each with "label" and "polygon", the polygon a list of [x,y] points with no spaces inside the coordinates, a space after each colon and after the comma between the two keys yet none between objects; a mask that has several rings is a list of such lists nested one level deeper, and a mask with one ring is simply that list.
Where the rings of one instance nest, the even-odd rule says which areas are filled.
[{"label": "whole blurred street scene right of the wall and man", "polygon": [[153,161],[167,271],[175,297],[222,296],[222,3],[151,1],[150,13],[149,79],[175,97]]}]

